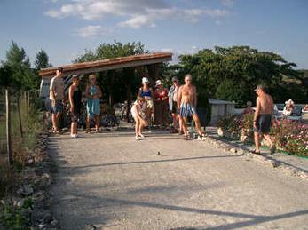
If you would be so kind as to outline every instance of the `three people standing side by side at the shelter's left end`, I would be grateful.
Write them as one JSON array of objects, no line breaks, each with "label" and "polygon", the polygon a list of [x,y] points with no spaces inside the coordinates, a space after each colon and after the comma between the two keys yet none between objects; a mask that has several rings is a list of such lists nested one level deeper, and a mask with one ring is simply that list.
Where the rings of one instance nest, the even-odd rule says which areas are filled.
[{"label": "three people standing side by side at the shelter's left end", "polygon": [[[63,68],[57,69],[56,75],[51,79],[50,85],[50,100],[51,100],[51,122],[52,131],[59,133],[59,117],[64,111],[65,87],[62,78]],[[71,117],[71,137],[77,138],[77,122],[81,115],[82,109],[82,91],[79,90],[79,77],[74,75],[72,77],[72,84],[68,89],[69,111]],[[102,96],[102,91],[96,82],[96,76],[89,76],[89,84],[85,89],[85,97],[87,99],[87,120],[86,120],[86,133],[91,132],[91,120],[94,120],[95,131],[99,132],[99,114],[100,103],[99,99]]]}]

